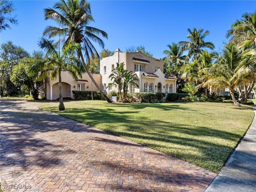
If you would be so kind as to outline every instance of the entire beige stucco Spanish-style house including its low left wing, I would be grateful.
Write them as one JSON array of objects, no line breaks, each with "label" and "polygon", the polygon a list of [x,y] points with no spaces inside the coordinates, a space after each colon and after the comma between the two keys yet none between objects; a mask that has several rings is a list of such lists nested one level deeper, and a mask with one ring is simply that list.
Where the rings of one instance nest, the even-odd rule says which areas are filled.
[{"label": "entire beige stucco Spanish-style house including its low left wing", "polygon": [[[165,75],[164,62],[162,59],[148,57],[141,52],[124,52],[116,49],[114,55],[105,57],[100,60],[100,74],[93,74],[94,80],[101,87],[103,91],[110,92],[117,90],[115,87],[108,87],[111,82],[109,75],[116,67],[116,63],[123,63],[124,69],[134,72],[138,81],[139,87],[131,86],[130,93],[135,92],[161,92],[161,93],[176,93],[176,76]],[[62,96],[63,98],[74,99],[73,90],[88,90],[97,91],[96,86],[92,83],[87,73],[74,80],[66,71],[61,72],[62,78]],[[57,100],[59,98],[58,78],[51,81],[46,79],[44,86],[42,86],[41,98],[47,100]]]}]

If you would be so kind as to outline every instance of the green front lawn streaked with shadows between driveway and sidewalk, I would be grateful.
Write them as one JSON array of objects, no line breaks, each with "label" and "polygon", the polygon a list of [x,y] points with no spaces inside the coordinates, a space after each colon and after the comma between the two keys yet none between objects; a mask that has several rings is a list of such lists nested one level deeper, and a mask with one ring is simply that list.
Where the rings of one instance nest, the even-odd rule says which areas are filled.
[{"label": "green front lawn streaked with shadows between driveway and sidewalk", "polygon": [[[41,106],[218,173],[250,126],[252,106],[221,103],[108,104],[105,101]],[[240,110],[243,109],[243,110]]]}]

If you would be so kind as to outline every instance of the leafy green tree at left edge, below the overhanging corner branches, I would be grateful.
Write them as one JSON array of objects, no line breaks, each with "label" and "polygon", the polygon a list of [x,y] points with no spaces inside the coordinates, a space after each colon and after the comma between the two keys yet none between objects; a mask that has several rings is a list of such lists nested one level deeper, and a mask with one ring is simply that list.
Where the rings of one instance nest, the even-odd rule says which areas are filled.
[{"label": "leafy green tree at left edge, below the overhanging corner branches", "polygon": [[30,54],[22,47],[7,41],[1,45],[0,53],[0,95],[20,94],[20,87],[15,86],[10,80],[12,67],[18,65],[23,58],[29,58]]}]

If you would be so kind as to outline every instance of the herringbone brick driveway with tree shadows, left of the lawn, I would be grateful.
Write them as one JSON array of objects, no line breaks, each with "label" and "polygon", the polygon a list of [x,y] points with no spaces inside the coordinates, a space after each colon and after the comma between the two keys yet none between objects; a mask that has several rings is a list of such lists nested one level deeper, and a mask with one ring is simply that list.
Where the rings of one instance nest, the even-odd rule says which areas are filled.
[{"label": "herringbone brick driveway with tree shadows, left of the lawn", "polygon": [[94,127],[1,100],[3,191],[204,191],[216,174]]}]

